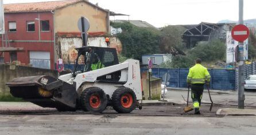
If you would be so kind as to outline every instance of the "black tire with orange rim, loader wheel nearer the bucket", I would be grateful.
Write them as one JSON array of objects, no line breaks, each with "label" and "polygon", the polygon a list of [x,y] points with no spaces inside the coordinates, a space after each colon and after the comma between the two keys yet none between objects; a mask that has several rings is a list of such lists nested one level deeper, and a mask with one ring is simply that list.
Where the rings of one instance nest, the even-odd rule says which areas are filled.
[{"label": "black tire with orange rim, loader wheel nearer the bucket", "polygon": [[107,96],[98,87],[87,88],[81,94],[80,104],[84,111],[101,113],[107,107]]}]

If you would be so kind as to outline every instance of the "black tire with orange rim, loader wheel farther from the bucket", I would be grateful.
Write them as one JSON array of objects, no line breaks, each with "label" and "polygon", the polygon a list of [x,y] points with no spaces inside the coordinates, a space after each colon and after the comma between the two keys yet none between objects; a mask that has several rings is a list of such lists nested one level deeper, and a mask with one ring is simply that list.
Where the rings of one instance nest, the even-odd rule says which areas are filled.
[{"label": "black tire with orange rim, loader wheel farther from the bucket", "polygon": [[130,113],[136,106],[137,98],[133,90],[118,88],[112,95],[112,104],[118,113]]}]

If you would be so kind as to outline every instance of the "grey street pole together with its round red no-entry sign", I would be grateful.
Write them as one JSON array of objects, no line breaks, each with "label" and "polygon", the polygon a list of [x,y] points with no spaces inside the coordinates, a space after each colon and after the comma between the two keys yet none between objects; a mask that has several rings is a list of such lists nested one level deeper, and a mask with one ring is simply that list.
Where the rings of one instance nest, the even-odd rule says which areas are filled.
[{"label": "grey street pole together with its round red no-entry sign", "polygon": [[239,0],[239,25],[236,25],[232,31],[232,38],[238,41],[238,109],[245,108],[245,94],[243,84],[243,41],[249,37],[249,29],[243,25],[243,0]]}]

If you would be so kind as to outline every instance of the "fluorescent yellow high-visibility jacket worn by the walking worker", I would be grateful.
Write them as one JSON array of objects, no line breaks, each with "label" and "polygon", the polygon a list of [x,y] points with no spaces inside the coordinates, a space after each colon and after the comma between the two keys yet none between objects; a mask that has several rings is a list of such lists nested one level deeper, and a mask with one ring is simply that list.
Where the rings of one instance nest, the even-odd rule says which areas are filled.
[{"label": "fluorescent yellow high-visibility jacket worn by the walking worker", "polygon": [[204,84],[205,81],[210,82],[211,76],[207,70],[201,64],[197,63],[195,66],[189,69],[187,82],[191,84]]}]

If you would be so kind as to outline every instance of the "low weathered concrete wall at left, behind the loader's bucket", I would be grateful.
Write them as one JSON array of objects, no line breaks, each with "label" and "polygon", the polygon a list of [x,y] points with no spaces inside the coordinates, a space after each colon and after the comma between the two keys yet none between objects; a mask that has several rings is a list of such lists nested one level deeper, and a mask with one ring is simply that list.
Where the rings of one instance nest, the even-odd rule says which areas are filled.
[{"label": "low weathered concrete wall at left, behind the loader's bucket", "polygon": [[5,84],[13,78],[41,75],[57,77],[57,71],[32,68],[28,66],[0,64],[0,96],[9,95],[9,88]]}]

